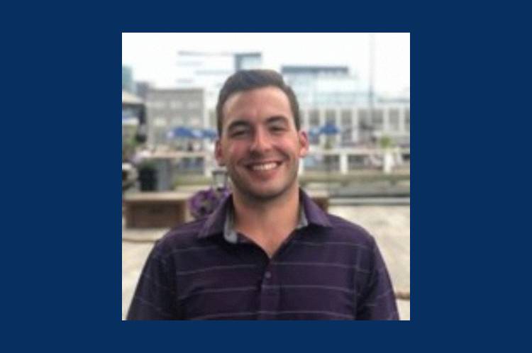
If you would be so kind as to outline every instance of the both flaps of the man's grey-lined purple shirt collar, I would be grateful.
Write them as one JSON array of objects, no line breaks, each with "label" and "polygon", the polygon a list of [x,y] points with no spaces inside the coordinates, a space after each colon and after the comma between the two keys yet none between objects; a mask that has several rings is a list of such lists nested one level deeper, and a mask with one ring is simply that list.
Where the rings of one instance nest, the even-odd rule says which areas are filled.
[{"label": "both flaps of the man's grey-lined purple shirt collar", "polygon": [[[312,201],[312,199],[301,189],[299,189],[299,223],[297,229],[304,228],[307,225],[314,224],[321,227],[330,228],[326,213]],[[233,229],[233,195],[226,196],[220,205],[206,221],[198,233],[199,238],[209,237],[211,235],[222,234],[228,242],[237,242],[238,235]]]}]

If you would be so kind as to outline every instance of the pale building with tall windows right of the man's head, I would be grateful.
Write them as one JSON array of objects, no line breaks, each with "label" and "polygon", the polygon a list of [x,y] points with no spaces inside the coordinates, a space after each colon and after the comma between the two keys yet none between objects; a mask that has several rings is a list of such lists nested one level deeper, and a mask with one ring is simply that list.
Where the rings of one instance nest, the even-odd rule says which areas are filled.
[{"label": "pale building with tall windows right of the man's head", "polygon": [[[375,99],[370,108],[367,89],[347,66],[283,66],[282,75],[294,89],[301,108],[301,125],[309,132],[325,124],[340,133],[326,137],[310,133],[311,145],[350,147],[388,136],[397,145],[410,142],[410,99]],[[370,113],[372,111],[372,113]]]}]

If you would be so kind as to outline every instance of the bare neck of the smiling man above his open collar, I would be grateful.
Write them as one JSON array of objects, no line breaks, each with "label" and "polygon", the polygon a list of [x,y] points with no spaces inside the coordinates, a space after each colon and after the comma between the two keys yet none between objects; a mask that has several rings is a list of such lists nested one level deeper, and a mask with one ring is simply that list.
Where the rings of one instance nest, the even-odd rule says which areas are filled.
[{"label": "bare neck of the smiling man above his open collar", "polygon": [[296,228],[299,220],[299,187],[269,201],[257,202],[233,194],[236,231],[243,233],[272,257]]}]

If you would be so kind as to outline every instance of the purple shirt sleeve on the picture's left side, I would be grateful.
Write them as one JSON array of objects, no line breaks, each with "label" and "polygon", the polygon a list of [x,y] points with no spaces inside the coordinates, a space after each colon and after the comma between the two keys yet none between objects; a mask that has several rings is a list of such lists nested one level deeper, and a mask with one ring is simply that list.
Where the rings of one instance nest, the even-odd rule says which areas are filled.
[{"label": "purple shirt sleeve on the picture's left side", "polygon": [[138,279],[126,320],[179,320],[172,258],[155,243]]}]

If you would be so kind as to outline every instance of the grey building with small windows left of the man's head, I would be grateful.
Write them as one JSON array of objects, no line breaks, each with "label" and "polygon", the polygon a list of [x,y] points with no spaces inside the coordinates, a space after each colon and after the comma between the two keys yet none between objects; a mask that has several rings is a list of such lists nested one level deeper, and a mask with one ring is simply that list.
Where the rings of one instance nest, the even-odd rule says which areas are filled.
[{"label": "grey building with small windows left of the man's head", "polygon": [[206,128],[204,89],[149,89],[146,94],[148,143],[174,145],[167,138],[178,127]]}]

